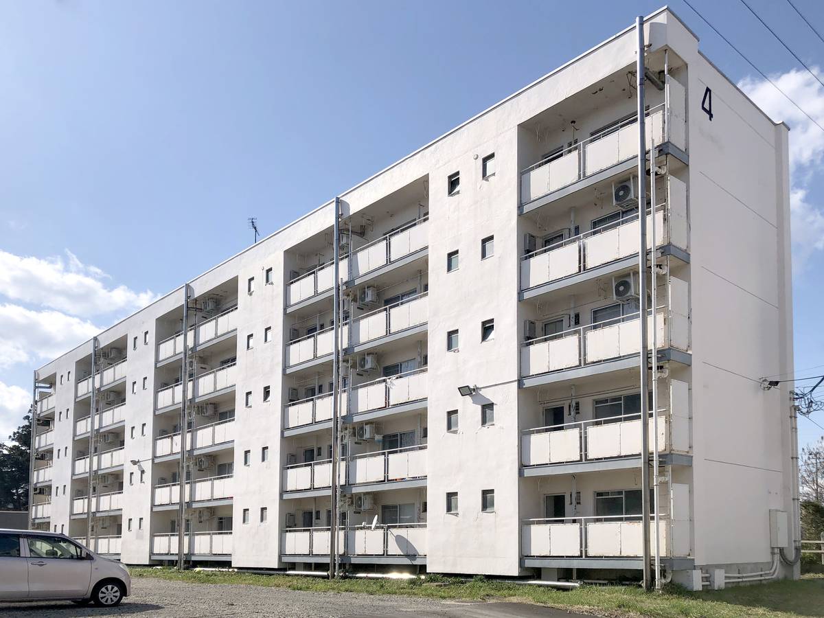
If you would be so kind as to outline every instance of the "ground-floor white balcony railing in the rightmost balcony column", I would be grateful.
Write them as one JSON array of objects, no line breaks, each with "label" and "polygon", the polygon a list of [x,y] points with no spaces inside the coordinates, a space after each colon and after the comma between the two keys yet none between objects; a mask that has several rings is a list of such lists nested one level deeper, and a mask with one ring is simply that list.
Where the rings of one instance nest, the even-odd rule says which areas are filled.
[{"label": "ground-floor white balcony railing in the rightmost balcony column", "polygon": [[[673,522],[668,516],[659,519],[658,543],[663,556],[689,555],[689,522]],[[655,539],[654,523],[650,535]],[[561,517],[527,519],[521,527],[521,553],[531,557],[558,558],[634,558],[642,555],[641,516]],[[672,539],[679,542],[672,543]]]}]

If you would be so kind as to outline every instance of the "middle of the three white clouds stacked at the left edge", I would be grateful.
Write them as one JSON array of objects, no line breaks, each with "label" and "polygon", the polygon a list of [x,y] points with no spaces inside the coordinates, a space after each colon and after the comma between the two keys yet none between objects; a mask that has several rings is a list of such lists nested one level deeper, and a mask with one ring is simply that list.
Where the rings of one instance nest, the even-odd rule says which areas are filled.
[{"label": "middle of the three white clouds stacked at the left edge", "polygon": [[59,311],[0,305],[0,368],[51,360],[101,330],[89,321]]}]

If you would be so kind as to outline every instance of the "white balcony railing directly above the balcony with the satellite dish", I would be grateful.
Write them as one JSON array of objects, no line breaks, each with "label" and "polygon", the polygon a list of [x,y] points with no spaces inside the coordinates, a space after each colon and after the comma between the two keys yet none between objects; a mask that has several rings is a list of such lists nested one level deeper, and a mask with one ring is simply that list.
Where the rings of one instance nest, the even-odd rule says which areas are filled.
[{"label": "white balcony railing directly above the balcony with the satellite dish", "polygon": [[[338,472],[339,482],[344,485],[424,478],[426,445],[350,456]],[[324,489],[330,487],[331,481],[332,464],[329,459],[283,468],[284,491]]]}]

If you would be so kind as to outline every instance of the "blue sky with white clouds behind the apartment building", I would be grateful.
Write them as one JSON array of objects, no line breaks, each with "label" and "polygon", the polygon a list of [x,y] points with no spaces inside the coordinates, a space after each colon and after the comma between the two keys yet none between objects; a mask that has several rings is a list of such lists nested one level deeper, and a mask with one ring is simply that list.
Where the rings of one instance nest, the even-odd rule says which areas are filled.
[{"label": "blue sky with white clouds behind the apartment building", "polygon": [[[824,30],[824,4],[794,3]],[[824,124],[824,89],[740,2],[693,4]],[[659,6],[0,2],[0,435],[33,368],[250,244],[246,217],[273,232]],[[670,6],[794,129],[796,367],[819,375],[824,132]],[[824,64],[785,0],[751,6]]]}]

